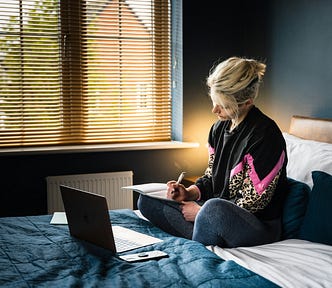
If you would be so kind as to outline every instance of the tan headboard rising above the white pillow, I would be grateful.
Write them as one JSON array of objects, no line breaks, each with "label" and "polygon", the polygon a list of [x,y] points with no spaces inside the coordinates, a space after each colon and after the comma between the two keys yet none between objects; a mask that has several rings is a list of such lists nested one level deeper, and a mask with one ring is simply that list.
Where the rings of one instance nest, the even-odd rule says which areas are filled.
[{"label": "tan headboard rising above the white pillow", "polygon": [[332,143],[332,119],[294,115],[289,134],[303,139]]}]

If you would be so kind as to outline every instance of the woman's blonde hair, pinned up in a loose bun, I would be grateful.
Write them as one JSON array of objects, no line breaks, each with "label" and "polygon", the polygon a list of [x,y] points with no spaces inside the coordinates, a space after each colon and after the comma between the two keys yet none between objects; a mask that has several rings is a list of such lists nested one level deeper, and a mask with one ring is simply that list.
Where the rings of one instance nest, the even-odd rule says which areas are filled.
[{"label": "woman's blonde hair, pinned up in a loose bun", "polygon": [[237,115],[239,104],[258,96],[265,69],[264,63],[240,57],[219,63],[207,78],[212,101]]}]

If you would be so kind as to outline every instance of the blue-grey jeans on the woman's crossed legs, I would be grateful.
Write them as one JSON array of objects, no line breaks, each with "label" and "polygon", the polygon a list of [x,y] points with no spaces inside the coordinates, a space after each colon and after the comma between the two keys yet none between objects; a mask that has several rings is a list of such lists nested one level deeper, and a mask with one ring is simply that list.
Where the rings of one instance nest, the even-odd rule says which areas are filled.
[{"label": "blue-grey jeans on the woman's crossed legs", "polygon": [[220,247],[255,246],[280,240],[281,221],[261,221],[230,201],[202,204],[195,222],[183,218],[180,204],[140,195],[138,209],[154,225],[178,237]]}]

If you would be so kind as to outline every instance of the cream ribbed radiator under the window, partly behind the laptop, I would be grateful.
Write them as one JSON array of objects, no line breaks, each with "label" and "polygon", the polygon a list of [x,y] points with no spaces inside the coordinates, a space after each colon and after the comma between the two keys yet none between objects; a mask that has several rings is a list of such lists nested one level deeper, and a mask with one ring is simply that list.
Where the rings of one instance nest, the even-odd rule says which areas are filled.
[{"label": "cream ribbed radiator under the window, partly behind the laptop", "polygon": [[48,176],[47,210],[49,214],[64,211],[59,185],[66,185],[106,197],[108,209],[133,209],[132,191],[122,190],[122,186],[132,185],[133,172],[109,172]]}]

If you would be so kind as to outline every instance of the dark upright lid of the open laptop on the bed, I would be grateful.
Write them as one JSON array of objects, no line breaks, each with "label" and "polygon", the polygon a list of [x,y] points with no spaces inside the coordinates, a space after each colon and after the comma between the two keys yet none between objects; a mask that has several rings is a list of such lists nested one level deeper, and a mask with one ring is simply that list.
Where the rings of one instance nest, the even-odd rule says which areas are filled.
[{"label": "dark upright lid of the open laptop on the bed", "polygon": [[106,198],[102,195],[60,185],[69,232],[116,253]]}]

